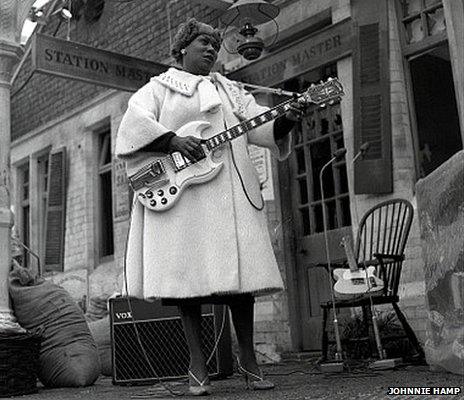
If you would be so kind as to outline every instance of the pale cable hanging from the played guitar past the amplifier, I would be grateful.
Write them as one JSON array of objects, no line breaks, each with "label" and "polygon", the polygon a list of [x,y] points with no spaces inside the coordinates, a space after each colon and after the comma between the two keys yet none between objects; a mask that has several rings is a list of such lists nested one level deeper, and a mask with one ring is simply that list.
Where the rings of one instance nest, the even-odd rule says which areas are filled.
[{"label": "pale cable hanging from the played guitar past the amplifier", "polygon": [[[153,364],[151,363],[150,361],[150,357],[148,356],[148,353],[145,349],[145,346],[143,345],[142,343],[142,339],[141,339],[141,335],[140,335],[140,332],[139,332],[139,329],[137,327],[137,322],[135,321],[135,316],[134,316],[134,313],[133,313],[133,308],[132,308],[132,304],[131,304],[131,299],[130,299],[130,294],[129,294],[129,285],[128,285],[128,282],[127,282],[127,247],[128,247],[128,243],[129,243],[129,234],[130,234],[130,229],[131,229],[131,225],[132,225],[132,212],[134,210],[134,206],[136,205],[137,203],[137,198],[134,197],[134,200],[132,202],[132,211],[131,211],[131,217],[129,218],[129,227],[128,227],[128,230],[127,230],[127,234],[126,234],[126,240],[125,240],[125,250],[124,250],[124,261],[123,261],[123,276],[124,276],[124,290],[126,292],[126,300],[127,300],[127,306],[128,306],[128,309],[129,309],[129,312],[130,312],[130,315],[131,315],[131,319],[132,319],[132,325],[134,327],[134,331],[135,331],[135,336],[136,336],[136,339],[137,339],[137,343],[143,353],[143,356],[145,358],[145,361],[147,362],[149,368],[150,368],[150,372],[153,374],[154,378],[156,379],[157,383],[159,383],[165,390],[167,390],[172,396],[176,396],[176,397],[180,397],[180,396],[184,396],[185,393],[184,392],[180,392],[180,391],[177,391],[177,390],[174,390],[172,389],[169,385],[167,385],[162,379],[161,377],[156,373],[155,371],[155,368],[153,367]],[[222,338],[222,334],[224,332],[224,327],[225,327],[225,323],[226,323],[226,315],[227,315],[227,305],[224,305],[223,306],[223,312],[222,312],[222,322],[221,322],[221,328],[219,330],[219,334],[217,335],[217,339],[214,343],[214,346],[213,346],[213,349],[211,350],[211,354],[209,355],[207,361],[206,361],[206,366],[209,365],[209,363],[211,362],[211,360],[213,359],[213,356],[214,356],[214,353],[216,352],[216,349],[219,345],[219,342]],[[149,394],[150,396],[153,397],[153,393]],[[133,398],[143,398],[144,395],[140,396],[140,395],[134,395],[132,396]],[[155,395],[155,397],[157,397]],[[164,396],[163,396],[164,397]]]}]

